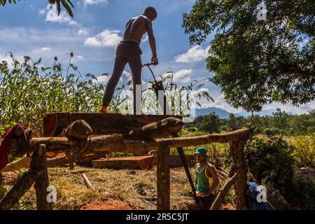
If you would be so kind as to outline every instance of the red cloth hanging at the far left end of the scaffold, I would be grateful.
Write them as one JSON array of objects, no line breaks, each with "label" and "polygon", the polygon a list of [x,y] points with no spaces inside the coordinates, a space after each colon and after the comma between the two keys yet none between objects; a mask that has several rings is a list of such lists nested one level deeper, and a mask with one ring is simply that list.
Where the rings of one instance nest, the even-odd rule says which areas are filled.
[{"label": "red cloth hanging at the far left end of the scaffold", "polygon": [[2,134],[1,136],[2,141],[0,146],[0,170],[6,167],[6,165],[8,164],[8,144],[10,143],[10,139],[14,133],[15,128],[19,126],[21,126],[24,130],[28,129],[28,127],[18,124],[4,132],[4,134]]}]

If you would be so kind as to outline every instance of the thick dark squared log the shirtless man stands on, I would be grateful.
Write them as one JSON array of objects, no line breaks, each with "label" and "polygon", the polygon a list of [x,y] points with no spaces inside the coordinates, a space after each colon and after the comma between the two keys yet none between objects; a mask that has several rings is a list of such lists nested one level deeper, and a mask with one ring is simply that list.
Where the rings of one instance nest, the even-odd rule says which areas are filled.
[{"label": "thick dark squared log the shirtless man stands on", "polygon": [[126,134],[139,127],[159,120],[181,116],[162,115],[123,115],[120,113],[49,113],[43,118],[44,137],[57,137],[71,123],[85,120],[93,130],[93,134]]}]

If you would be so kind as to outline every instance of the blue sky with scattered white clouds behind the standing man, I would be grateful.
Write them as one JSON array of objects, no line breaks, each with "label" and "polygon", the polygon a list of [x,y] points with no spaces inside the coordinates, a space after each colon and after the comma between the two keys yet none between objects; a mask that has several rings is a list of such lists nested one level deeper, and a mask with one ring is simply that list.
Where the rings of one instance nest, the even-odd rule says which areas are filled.
[{"label": "blue sky with scattered white clouds behind the standing man", "polygon": [[[191,46],[188,35],[181,27],[182,14],[188,13],[193,0],[73,0],[74,20],[65,12],[59,17],[55,8],[50,10],[46,0],[22,0],[17,5],[0,8],[0,60],[6,59],[6,52],[22,59],[29,55],[33,59],[43,58],[42,64],[50,66],[53,57],[57,56],[66,65],[73,52],[73,64],[81,73],[111,73],[116,45],[123,36],[127,20],[141,14],[147,6],[158,10],[158,18],[153,22],[153,30],[157,41],[159,66],[153,68],[157,75],[174,71],[176,83],[186,85],[190,80],[213,77],[205,69],[204,59],[211,37],[201,46]],[[151,50],[144,38],[141,43],[143,62],[150,62]],[[126,66],[125,73],[130,73]],[[151,80],[151,73],[143,71],[143,79]],[[106,81],[99,78],[100,81]],[[202,107],[216,106],[235,113],[241,109],[233,109],[226,104],[224,95],[213,84],[204,86],[215,102],[202,102]],[[315,102],[294,108],[290,104],[270,104],[265,110],[276,107],[293,112],[307,113],[315,108]]]}]

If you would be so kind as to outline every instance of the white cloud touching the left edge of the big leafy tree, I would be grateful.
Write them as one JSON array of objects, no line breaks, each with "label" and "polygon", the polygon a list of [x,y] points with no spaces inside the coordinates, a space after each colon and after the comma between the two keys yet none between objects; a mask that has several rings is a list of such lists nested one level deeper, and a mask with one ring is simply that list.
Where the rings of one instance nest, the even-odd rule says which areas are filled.
[{"label": "white cloud touching the left edge of the big leafy tree", "polygon": [[188,52],[175,57],[175,62],[192,63],[200,62],[208,57],[209,47],[204,49],[200,45],[195,45]]}]

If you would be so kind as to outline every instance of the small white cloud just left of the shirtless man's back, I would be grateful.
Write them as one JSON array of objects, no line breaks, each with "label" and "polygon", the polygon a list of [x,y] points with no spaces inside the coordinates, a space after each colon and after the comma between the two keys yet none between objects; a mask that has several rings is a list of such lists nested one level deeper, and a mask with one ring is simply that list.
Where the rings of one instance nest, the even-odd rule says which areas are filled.
[{"label": "small white cloud just left of the shirtless man's back", "polygon": [[92,45],[96,47],[116,47],[123,39],[119,34],[120,30],[104,29],[102,33],[89,37],[85,40],[85,45]]}]

